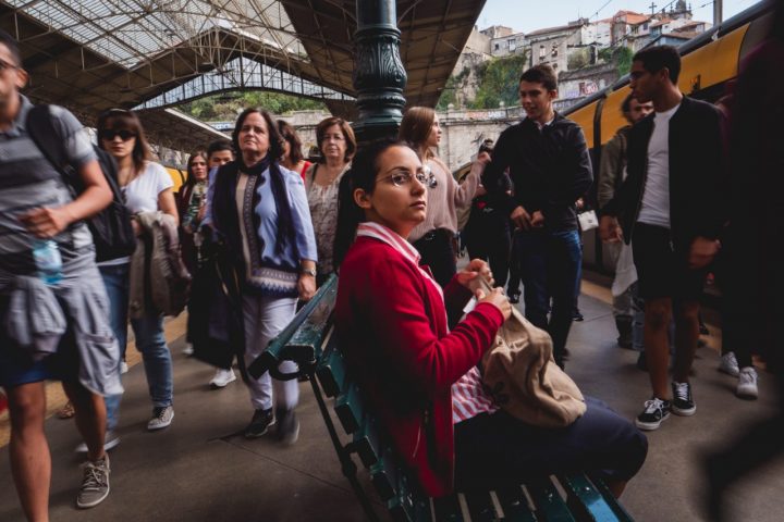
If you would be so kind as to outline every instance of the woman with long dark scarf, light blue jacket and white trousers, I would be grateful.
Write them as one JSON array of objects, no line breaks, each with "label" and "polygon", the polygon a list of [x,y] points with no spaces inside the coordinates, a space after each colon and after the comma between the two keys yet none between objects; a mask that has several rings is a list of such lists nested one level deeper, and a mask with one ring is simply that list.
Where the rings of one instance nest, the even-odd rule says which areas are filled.
[{"label": "woman with long dark scarf, light blue jacket and white trousers", "polygon": [[[242,282],[245,362],[250,364],[294,316],[297,297],[316,293],[316,239],[299,174],[281,166],[283,140],[270,115],[247,109],[232,134],[238,158],[221,166],[210,186],[205,224],[220,234]],[[284,363],[282,371],[293,370]],[[260,437],[278,423],[284,444],[296,442],[296,381],[265,373],[248,378],[254,414],[245,428]],[[274,406],[274,410],[273,410]]]}]

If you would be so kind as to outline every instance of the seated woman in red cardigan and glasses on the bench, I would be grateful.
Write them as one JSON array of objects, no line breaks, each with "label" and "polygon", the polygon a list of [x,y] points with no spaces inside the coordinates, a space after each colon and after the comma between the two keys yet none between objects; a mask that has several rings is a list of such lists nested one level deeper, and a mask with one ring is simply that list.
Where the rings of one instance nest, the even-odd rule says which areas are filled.
[{"label": "seated woman in red cardigan and glasses on the bench", "polygon": [[[551,473],[601,473],[620,494],[647,440],[596,400],[571,426],[542,430],[500,411],[477,370],[510,303],[473,291],[474,260],[441,290],[406,241],[425,219],[429,172],[402,142],[371,144],[341,183],[335,328],[347,363],[425,493],[495,487]],[[354,239],[356,236],[356,239]],[[353,241],[353,243],[352,243]],[[451,332],[446,307],[478,303]]]}]

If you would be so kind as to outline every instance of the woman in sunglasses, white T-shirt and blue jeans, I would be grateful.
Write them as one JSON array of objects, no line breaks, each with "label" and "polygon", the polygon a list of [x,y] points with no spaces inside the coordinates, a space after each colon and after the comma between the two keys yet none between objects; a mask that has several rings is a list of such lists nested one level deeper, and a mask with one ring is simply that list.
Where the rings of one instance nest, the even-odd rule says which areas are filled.
[{"label": "woman in sunglasses, white T-shirt and blue jeans", "polygon": [[[177,222],[173,182],[166,169],[150,161],[152,153],[138,116],[131,111],[112,109],[98,117],[97,128],[98,146],[118,163],[118,182],[131,213],[161,211]],[[138,224],[134,221],[133,225],[139,234]],[[130,263],[130,258],[121,258],[98,265],[109,293],[114,335],[123,353],[127,341]],[[132,319],[131,327],[136,349],[142,352],[152,400],[152,415],[147,430],[162,430],[174,418],[172,359],[163,337],[163,316],[147,312],[139,319]],[[107,401],[109,428],[117,425],[119,403],[119,397],[113,403]]]}]

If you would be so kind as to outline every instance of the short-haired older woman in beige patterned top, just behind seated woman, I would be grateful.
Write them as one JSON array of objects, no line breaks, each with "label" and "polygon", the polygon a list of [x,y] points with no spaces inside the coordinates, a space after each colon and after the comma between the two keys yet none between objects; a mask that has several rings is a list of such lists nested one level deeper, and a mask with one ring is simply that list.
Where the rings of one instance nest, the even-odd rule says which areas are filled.
[{"label": "short-haired older woman in beige patterned top, just behind seated woman", "polygon": [[354,132],[340,117],[328,117],[316,127],[321,159],[305,174],[308,207],[318,245],[318,283],[334,272],[332,245],[338,224],[338,187],[356,151]]}]

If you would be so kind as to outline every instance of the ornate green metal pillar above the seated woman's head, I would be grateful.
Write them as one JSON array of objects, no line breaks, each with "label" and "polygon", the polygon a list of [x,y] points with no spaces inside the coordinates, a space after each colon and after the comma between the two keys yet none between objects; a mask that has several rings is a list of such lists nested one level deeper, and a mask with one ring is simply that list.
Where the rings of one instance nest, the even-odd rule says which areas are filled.
[{"label": "ornate green metal pillar above the seated woman's head", "polygon": [[354,88],[359,116],[354,132],[363,144],[397,134],[407,76],[400,58],[395,1],[359,0],[356,20]]}]

